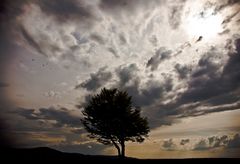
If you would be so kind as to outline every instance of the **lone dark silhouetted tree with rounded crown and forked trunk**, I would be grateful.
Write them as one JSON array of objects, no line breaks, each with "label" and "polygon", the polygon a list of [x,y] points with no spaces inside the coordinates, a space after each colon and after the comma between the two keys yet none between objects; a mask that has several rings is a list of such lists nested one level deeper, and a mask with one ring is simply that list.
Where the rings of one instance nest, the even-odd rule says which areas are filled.
[{"label": "lone dark silhouetted tree with rounded crown and forked trunk", "polygon": [[105,145],[113,144],[119,157],[125,157],[125,142],[143,142],[149,132],[147,118],[133,107],[127,92],[103,88],[92,96],[82,111],[82,123],[90,138]]}]

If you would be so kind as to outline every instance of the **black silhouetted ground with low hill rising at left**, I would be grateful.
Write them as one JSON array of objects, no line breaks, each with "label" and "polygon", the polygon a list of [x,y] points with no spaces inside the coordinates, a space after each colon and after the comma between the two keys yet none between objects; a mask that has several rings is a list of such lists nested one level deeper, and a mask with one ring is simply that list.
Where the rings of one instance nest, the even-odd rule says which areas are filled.
[{"label": "black silhouetted ground with low hill rising at left", "polygon": [[[102,162],[117,162],[122,161],[117,156],[102,156],[102,155],[83,155],[78,153],[65,153],[57,151],[47,147],[39,148],[2,148],[0,149],[0,159],[5,163],[9,162],[29,162],[29,163],[39,163],[39,162],[84,162],[84,161],[102,161]],[[227,159],[227,158],[209,158],[209,159],[136,159],[136,158],[125,158],[124,162],[137,162],[137,163],[149,163],[157,162],[161,164],[165,163],[195,163],[195,162],[232,162],[233,160],[239,159]],[[123,162],[123,161],[122,161]],[[1,162],[2,163],[2,162]],[[238,162],[239,163],[239,162]]]}]

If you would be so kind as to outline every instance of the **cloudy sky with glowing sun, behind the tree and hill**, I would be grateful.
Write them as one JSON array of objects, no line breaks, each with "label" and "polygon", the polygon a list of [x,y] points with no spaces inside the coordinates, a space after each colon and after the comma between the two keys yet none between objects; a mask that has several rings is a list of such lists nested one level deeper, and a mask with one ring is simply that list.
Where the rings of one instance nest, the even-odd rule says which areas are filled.
[{"label": "cloudy sky with glowing sun, behind the tree and hill", "polygon": [[239,0],[2,0],[0,36],[2,143],[116,154],[80,118],[117,87],[151,127],[127,156],[240,157]]}]

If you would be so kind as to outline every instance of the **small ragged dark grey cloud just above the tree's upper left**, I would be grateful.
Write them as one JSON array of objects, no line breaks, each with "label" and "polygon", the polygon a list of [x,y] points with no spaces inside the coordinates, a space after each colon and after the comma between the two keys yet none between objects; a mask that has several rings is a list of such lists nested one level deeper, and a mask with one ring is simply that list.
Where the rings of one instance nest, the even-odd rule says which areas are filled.
[{"label": "small ragged dark grey cloud just above the tree's upper left", "polygon": [[107,67],[102,67],[96,73],[91,73],[90,78],[81,84],[77,85],[75,88],[85,88],[88,91],[95,91],[98,88],[105,85],[111,78],[112,73],[106,71]]}]

